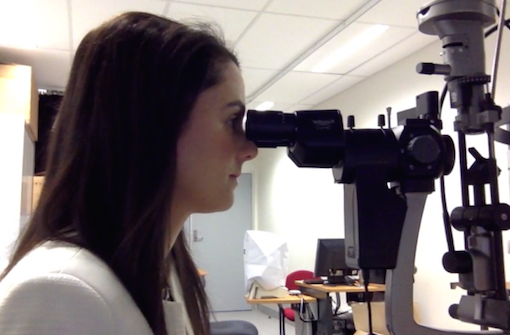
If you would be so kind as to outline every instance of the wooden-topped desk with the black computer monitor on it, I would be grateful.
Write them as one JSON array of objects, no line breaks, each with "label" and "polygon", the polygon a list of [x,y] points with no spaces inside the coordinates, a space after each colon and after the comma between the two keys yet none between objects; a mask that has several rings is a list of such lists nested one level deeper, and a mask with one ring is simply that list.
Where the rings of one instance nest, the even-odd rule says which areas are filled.
[{"label": "wooden-topped desk with the black computer monitor on it", "polygon": [[[305,284],[302,280],[298,280],[295,283],[299,286],[301,292],[317,299],[316,335],[333,334],[333,312],[331,310],[331,300],[329,298],[330,293],[365,292],[364,286]],[[368,285],[369,292],[384,292],[385,289],[385,285],[382,284]]]}]

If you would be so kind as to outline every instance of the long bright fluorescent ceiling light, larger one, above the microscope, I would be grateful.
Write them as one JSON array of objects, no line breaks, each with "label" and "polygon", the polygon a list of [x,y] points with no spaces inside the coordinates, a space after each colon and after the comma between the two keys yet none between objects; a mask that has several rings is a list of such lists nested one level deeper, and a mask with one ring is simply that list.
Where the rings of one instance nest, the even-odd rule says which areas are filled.
[{"label": "long bright fluorescent ceiling light, larger one, above the microscope", "polygon": [[388,26],[383,24],[376,24],[371,26],[360,35],[354,37],[346,45],[337,49],[322,62],[314,66],[312,68],[312,72],[326,72],[336,64],[340,63],[345,58],[349,57],[356,51],[360,50],[361,48],[375,40],[377,37],[381,36],[387,29]]}]

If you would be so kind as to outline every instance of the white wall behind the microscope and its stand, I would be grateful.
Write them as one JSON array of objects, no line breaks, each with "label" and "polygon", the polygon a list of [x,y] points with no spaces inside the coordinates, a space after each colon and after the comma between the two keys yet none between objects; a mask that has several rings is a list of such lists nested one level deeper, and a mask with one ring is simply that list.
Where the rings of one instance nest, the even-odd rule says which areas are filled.
[{"label": "white wall behind the microscope and its stand", "polygon": [[[487,64],[492,63],[494,38],[486,45]],[[488,50],[490,47],[491,50]],[[342,92],[314,109],[336,108],[347,115],[356,116],[359,128],[374,128],[377,115],[385,114],[386,107],[393,108],[392,125],[396,125],[395,112],[415,106],[415,96],[425,91],[441,91],[441,76],[425,76],[415,73],[418,62],[442,63],[439,56],[439,41],[411,55],[369,79]],[[510,35],[505,31],[502,63],[499,69],[499,82],[496,102],[508,105],[510,99]],[[487,72],[491,67],[487,67]],[[447,101],[445,105],[449,104]],[[456,138],[453,132],[455,111],[443,111],[444,133]],[[468,141],[482,155],[486,155],[485,138],[476,136]],[[509,178],[507,148],[497,146],[498,165],[502,169],[500,196],[503,202],[509,199]],[[258,163],[258,227],[261,230],[278,233],[287,238],[290,248],[290,271],[313,269],[316,240],[319,237],[343,237],[343,198],[342,186],[333,184],[330,170],[299,169],[286,156],[284,149],[260,150]],[[454,172],[446,179],[449,210],[461,204],[458,162]],[[439,190],[437,185],[436,190]],[[510,235],[505,234],[507,241]],[[455,234],[456,248],[462,245],[462,236]],[[422,219],[416,266],[418,273],[414,286],[415,300],[421,308],[423,323],[433,327],[448,329],[478,329],[448,316],[448,307],[457,303],[463,293],[460,289],[450,290],[450,282],[457,276],[446,273],[441,258],[447,250],[442,226],[439,192],[427,201]],[[506,250],[506,248],[505,248]],[[510,270],[508,257],[506,271]]]}]

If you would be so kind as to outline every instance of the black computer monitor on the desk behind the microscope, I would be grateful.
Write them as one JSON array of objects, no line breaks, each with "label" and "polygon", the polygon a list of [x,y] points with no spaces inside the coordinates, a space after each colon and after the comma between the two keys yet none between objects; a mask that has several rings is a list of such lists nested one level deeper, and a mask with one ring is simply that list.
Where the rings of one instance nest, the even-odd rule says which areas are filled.
[{"label": "black computer monitor on the desk behind the microscope", "polygon": [[345,263],[345,240],[342,238],[321,238],[317,241],[315,255],[315,276],[328,277],[329,284],[347,284],[346,276],[357,274]]}]

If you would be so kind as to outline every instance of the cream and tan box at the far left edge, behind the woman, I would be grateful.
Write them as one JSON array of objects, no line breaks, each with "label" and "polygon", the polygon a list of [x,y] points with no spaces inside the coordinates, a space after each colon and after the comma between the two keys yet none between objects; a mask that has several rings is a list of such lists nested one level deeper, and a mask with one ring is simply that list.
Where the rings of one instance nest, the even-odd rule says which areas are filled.
[{"label": "cream and tan box at the far left edge, behind the woman", "polygon": [[24,115],[30,138],[37,141],[39,93],[30,66],[0,63],[0,113]]}]

